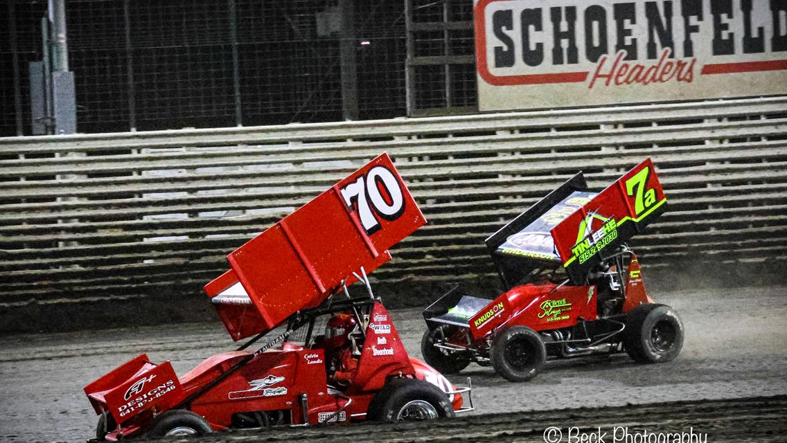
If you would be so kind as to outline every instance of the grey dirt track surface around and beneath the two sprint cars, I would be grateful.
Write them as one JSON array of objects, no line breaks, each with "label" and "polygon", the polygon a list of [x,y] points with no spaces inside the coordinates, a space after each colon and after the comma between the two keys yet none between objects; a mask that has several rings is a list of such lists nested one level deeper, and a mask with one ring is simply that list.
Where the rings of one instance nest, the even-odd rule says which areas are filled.
[{"label": "grey dirt track surface around and beneath the two sprint cars", "polygon": [[[504,426],[505,432],[514,433],[538,426],[541,432],[545,426],[560,426],[567,434],[568,426],[586,426],[583,423],[590,423],[587,426],[631,423],[630,426],[652,432],[681,432],[685,426],[694,426],[697,432],[711,433],[710,429],[702,428],[709,426],[733,436],[725,437],[726,440],[709,437],[708,441],[785,441],[787,437],[781,432],[785,426],[783,398],[729,404],[700,401],[689,406],[653,405],[644,409],[597,412],[545,412],[787,395],[785,292],[784,287],[770,286],[654,293],[657,302],[676,308],[685,323],[683,351],[669,364],[634,364],[625,355],[562,360],[547,364],[545,371],[533,381],[519,384],[497,377],[490,367],[468,367],[460,375],[449,378],[457,384],[463,383],[467,376],[473,378],[478,412],[456,422],[430,424],[429,430],[444,430],[430,438],[441,435],[465,438],[475,433],[475,426],[484,423],[491,423],[492,427],[479,428],[484,430],[478,433],[478,438],[465,440],[481,441],[482,437],[496,432],[494,426]],[[395,311],[392,317],[408,352],[419,357],[424,328],[419,311]],[[92,437],[96,423],[96,416],[82,392],[88,382],[139,353],[148,353],[154,361],[171,360],[176,372],[183,375],[205,357],[235,346],[218,323],[3,337],[0,342],[0,441],[84,441]],[[501,412],[517,413],[486,416]],[[634,413],[639,415],[630,416]],[[585,421],[574,420],[575,415]],[[648,419],[648,415],[652,418]],[[554,423],[549,422],[550,417],[554,418]],[[541,421],[527,421],[531,418]],[[649,423],[656,423],[655,427],[651,429]],[[760,425],[775,429],[777,434],[774,435],[778,438],[748,434],[753,426]],[[426,428],[417,427],[416,430],[416,427],[384,426],[379,430],[386,429],[384,432],[390,433],[394,441],[414,441],[421,438],[422,432],[427,432]],[[463,427],[465,429],[460,429]],[[372,432],[375,441],[382,436],[377,434],[378,428],[360,426],[357,429],[365,436],[364,441]],[[320,428],[314,432],[319,435],[323,431],[326,430]],[[339,431],[355,432],[349,428],[335,432]],[[511,434],[506,439],[519,440],[521,437],[523,441],[543,441],[537,434]],[[741,437],[734,437],[736,435]],[[611,441],[609,436],[605,441]]]}]

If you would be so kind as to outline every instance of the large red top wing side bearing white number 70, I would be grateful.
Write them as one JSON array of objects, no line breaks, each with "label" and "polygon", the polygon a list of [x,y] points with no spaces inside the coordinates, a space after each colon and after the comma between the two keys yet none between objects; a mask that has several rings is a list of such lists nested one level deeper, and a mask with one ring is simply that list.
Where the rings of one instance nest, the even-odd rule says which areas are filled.
[{"label": "large red top wing side bearing white number 70", "polygon": [[[237,279],[257,308],[261,319],[253,329],[270,330],[294,312],[319,305],[353,271],[370,272],[390,260],[387,249],[424,223],[383,153],[230,253],[235,275],[227,283]],[[218,292],[213,282],[205,290],[211,296]]]}]

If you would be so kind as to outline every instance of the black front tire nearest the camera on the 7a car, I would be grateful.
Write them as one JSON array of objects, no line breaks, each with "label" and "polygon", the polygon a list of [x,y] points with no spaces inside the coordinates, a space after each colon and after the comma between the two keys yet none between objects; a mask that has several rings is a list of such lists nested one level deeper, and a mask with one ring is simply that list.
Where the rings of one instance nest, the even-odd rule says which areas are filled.
[{"label": "black front tire nearest the camera on the 7a car", "polygon": [[527,382],[541,372],[545,361],[544,341],[529,327],[508,327],[492,341],[492,366],[509,381]]}]

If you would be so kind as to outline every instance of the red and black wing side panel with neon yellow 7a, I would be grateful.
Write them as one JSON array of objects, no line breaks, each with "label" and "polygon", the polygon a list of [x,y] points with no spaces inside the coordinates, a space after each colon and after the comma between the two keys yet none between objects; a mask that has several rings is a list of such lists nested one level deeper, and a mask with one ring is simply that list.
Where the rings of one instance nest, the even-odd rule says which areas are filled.
[{"label": "red and black wing side panel with neon yellow 7a", "polygon": [[553,227],[552,239],[571,282],[583,284],[594,264],[656,220],[666,203],[648,158]]}]

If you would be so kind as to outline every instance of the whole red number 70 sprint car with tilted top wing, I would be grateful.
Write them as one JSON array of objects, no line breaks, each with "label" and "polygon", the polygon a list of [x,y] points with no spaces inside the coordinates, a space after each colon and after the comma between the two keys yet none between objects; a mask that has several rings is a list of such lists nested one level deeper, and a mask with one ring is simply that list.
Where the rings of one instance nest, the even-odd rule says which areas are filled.
[{"label": "whole red number 70 sprint car with tilted top wing", "polygon": [[[408,356],[366,274],[424,223],[386,153],[279,220],[230,253],[231,269],[205,286],[231,337],[251,339],[180,378],[142,354],[87,385],[96,438],[471,411],[470,379],[456,388]],[[366,294],[351,296],[353,282]]]}]

